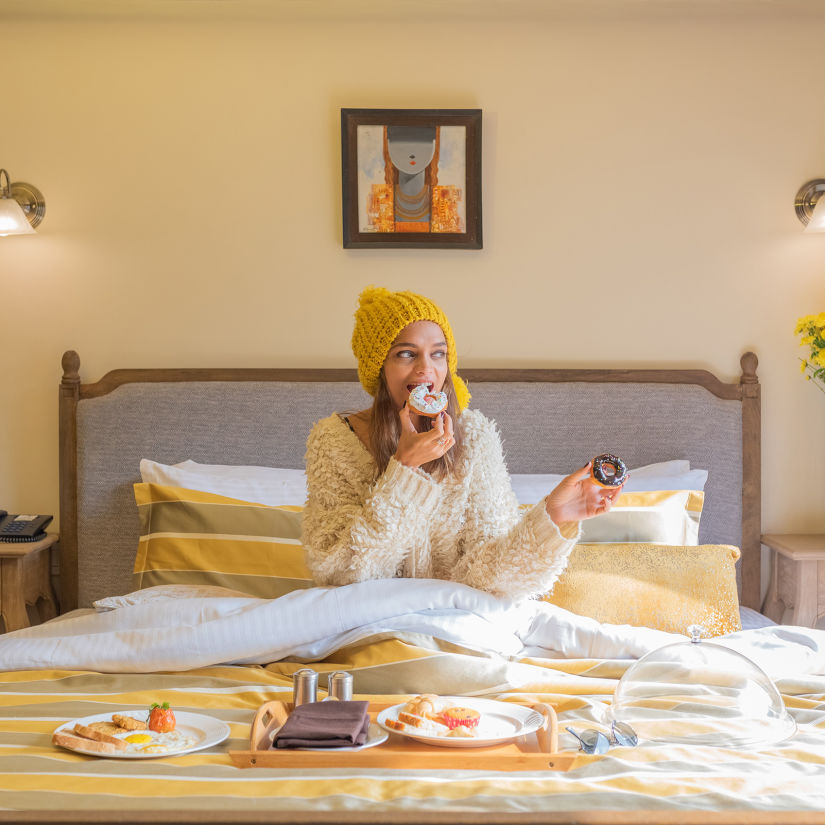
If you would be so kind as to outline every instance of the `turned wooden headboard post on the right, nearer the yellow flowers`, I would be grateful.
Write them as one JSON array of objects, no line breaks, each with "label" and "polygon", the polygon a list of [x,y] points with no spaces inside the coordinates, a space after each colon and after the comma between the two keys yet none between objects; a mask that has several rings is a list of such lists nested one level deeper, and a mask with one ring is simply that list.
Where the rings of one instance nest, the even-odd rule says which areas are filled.
[{"label": "turned wooden headboard post on the right, nearer the yellow flowers", "polygon": [[756,377],[759,359],[746,352],[742,376],[742,604],[761,606],[762,536],[762,388]]}]

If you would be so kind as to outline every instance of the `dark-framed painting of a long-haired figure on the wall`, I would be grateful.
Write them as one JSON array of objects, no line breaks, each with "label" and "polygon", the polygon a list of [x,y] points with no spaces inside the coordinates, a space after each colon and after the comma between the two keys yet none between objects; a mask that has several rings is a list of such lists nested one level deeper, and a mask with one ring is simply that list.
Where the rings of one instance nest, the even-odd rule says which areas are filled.
[{"label": "dark-framed painting of a long-haired figure on the wall", "polygon": [[341,109],[344,248],[481,249],[481,109]]}]

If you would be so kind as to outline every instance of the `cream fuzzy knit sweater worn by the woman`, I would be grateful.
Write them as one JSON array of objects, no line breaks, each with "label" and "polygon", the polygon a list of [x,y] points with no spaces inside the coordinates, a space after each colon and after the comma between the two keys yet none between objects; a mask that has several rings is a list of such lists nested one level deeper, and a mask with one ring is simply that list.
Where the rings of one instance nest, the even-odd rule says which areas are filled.
[{"label": "cream fuzzy knit sweater worn by the woman", "polygon": [[475,410],[462,420],[464,458],[456,477],[443,481],[395,459],[379,474],[341,416],[315,424],[303,543],[318,584],[406,576],[511,598],[550,589],[579,525],[565,525],[563,535],[543,501],[520,510],[495,425]]}]

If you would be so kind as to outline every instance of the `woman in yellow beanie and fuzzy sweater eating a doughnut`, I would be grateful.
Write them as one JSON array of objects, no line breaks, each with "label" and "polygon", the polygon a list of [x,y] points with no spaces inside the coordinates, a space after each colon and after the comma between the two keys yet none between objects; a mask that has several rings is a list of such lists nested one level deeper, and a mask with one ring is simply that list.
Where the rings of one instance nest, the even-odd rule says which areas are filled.
[{"label": "woman in yellow beanie and fuzzy sweater eating a doughnut", "polygon": [[[373,404],[322,419],[307,441],[303,542],[315,581],[406,576],[511,598],[547,592],[580,520],[609,510],[621,488],[592,483],[587,464],[520,510],[496,426],[467,409],[452,329],[429,299],[367,288],[352,350]],[[449,399],[434,421],[406,404],[420,384]]]}]

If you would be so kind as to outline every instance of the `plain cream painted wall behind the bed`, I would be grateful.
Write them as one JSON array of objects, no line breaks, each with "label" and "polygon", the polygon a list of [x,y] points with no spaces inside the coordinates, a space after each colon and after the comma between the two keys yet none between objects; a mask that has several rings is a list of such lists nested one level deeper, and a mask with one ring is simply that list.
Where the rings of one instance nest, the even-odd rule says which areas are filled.
[{"label": "plain cream painted wall behind the bed", "polygon": [[[763,526],[825,530],[825,396],[793,336],[825,310],[825,236],[793,212],[825,176],[825,15],[471,12],[2,21],[0,6],[19,69],[0,166],[48,202],[37,236],[0,239],[3,507],[57,511],[64,350],[86,381],[350,366],[356,295],[377,283],[436,298],[465,366],[734,380],[754,349]],[[341,107],[483,109],[483,251],[342,249]]]}]

